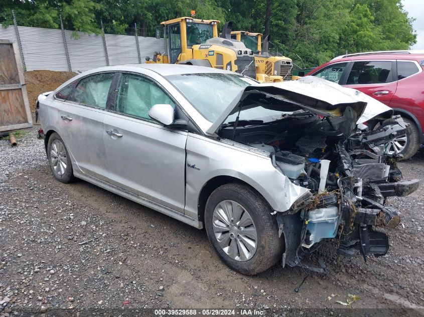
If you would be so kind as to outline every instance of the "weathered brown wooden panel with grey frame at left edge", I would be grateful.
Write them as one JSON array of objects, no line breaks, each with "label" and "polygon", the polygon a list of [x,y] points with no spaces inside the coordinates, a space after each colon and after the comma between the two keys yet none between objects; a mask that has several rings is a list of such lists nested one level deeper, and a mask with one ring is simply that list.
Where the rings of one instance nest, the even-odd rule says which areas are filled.
[{"label": "weathered brown wooden panel with grey frame at left edge", "polygon": [[0,133],[32,126],[17,43],[0,39]]}]

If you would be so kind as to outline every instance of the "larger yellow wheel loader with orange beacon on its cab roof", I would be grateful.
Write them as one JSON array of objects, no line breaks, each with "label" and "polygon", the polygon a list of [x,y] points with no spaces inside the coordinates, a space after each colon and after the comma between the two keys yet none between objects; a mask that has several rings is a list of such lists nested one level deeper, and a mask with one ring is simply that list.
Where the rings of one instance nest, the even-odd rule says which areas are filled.
[{"label": "larger yellow wheel loader with orange beacon on its cab roof", "polygon": [[[231,40],[231,23],[225,24],[218,37],[218,20],[188,17],[162,22],[166,52],[155,52],[146,63],[171,63],[208,66],[237,72],[256,79],[252,50],[240,41]],[[157,37],[160,34],[157,30]]]}]

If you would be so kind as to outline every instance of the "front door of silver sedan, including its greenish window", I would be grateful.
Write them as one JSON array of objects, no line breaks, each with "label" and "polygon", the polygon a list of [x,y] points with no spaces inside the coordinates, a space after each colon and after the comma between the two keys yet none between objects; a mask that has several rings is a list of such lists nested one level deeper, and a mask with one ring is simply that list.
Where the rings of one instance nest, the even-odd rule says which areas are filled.
[{"label": "front door of silver sedan, including its greenish window", "polygon": [[184,213],[187,132],[153,121],[149,110],[155,104],[176,107],[155,82],[122,74],[115,111],[104,121],[109,181]]}]

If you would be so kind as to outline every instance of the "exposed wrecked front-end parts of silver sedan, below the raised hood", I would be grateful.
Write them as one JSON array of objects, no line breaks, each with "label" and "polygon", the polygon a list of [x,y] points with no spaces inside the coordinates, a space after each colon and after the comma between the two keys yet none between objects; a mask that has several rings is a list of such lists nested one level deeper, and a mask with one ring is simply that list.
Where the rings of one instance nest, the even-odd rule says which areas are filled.
[{"label": "exposed wrecked front-end parts of silver sedan, below the raised hood", "polygon": [[[386,198],[406,196],[419,185],[416,179],[402,180],[396,157],[377,154],[380,147],[406,132],[400,116],[387,121],[384,128],[358,131],[350,137],[327,135],[325,146],[299,153],[305,157],[306,173],[293,182],[311,191],[290,210],[276,215],[279,234],[284,235],[286,243],[283,265],[301,265],[305,253],[325,238],[338,237],[338,254],[346,257],[359,252],[366,260],[368,254],[387,253],[388,237],[375,227],[394,228],[400,216],[397,210],[385,206]],[[323,175],[324,160],[330,162]],[[323,182],[325,190],[320,193],[319,184]],[[325,266],[311,269],[325,271]]]}]

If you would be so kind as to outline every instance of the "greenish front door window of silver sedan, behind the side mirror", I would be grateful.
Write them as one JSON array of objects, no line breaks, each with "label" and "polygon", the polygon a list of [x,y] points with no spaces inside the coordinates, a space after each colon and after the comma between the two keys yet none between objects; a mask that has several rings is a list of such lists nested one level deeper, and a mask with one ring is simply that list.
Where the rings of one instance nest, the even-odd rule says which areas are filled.
[{"label": "greenish front door window of silver sedan, behind the side mirror", "polygon": [[117,95],[117,112],[151,120],[149,110],[156,104],[169,104],[175,109],[172,99],[154,82],[142,76],[122,74]]}]

